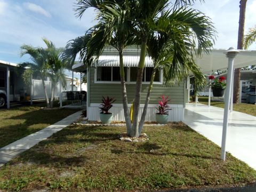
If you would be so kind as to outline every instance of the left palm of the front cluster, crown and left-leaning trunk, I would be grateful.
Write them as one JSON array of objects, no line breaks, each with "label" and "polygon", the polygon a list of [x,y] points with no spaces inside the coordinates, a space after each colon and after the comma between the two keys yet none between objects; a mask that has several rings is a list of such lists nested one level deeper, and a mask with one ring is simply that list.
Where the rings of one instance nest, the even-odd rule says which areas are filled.
[{"label": "left palm of the front cluster, crown and left-leaning trunk", "polygon": [[[102,5],[101,1],[79,1],[77,8],[78,17],[82,17],[86,9],[93,7],[98,10],[101,20],[93,28],[89,29],[85,36],[70,41],[66,46],[64,57],[68,58],[69,55],[73,55],[73,58],[75,58],[76,54],[79,53],[84,63],[89,67],[94,65],[94,62],[98,60],[106,45],[111,45],[118,51],[126,132],[130,135],[132,124],[127,101],[123,52],[127,46],[135,43],[135,39],[130,32],[132,30],[131,21],[127,20],[130,13],[124,10],[124,1],[121,2],[119,4],[113,4],[114,1],[109,1]],[[113,9],[109,9],[111,7]],[[118,20],[113,19],[114,14],[120,16]],[[80,41],[79,38],[83,39],[83,41]],[[77,49],[78,47],[80,49]]]}]

